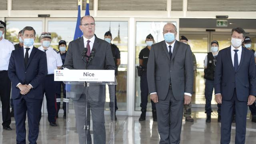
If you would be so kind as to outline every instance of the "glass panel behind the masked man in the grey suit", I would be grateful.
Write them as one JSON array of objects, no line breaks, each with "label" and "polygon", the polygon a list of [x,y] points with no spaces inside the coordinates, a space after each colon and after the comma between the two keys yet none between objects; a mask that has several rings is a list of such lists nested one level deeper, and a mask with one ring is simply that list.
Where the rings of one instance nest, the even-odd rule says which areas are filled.
[{"label": "glass panel behind the masked man in the grey suit", "polygon": [[[139,53],[146,47],[146,36],[151,34],[154,37],[155,42],[164,40],[163,27],[167,22],[136,22],[136,66],[139,65]],[[176,25],[176,22],[173,22]],[[141,96],[140,96],[140,77],[138,72],[135,70],[135,110],[139,111]],[[147,110],[151,110],[151,102],[148,96]]]}]

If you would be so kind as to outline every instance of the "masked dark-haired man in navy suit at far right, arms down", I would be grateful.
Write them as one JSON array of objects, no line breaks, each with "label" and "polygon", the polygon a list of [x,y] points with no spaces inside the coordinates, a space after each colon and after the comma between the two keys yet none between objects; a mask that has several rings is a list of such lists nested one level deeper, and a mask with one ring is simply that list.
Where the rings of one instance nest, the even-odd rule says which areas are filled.
[{"label": "masked dark-haired man in navy suit at far right, arms down", "polygon": [[244,144],[248,105],[255,101],[256,68],[254,54],[242,47],[245,31],[233,28],[231,46],[220,50],[217,58],[214,90],[221,106],[221,144],[230,143],[232,114],[236,111],[235,144]]}]

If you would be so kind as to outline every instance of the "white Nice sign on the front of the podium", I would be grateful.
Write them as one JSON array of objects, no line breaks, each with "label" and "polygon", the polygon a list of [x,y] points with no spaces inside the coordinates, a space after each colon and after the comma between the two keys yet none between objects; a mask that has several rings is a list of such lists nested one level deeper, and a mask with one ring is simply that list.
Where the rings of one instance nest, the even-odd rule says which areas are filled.
[{"label": "white Nice sign on the front of the podium", "polygon": [[54,70],[54,81],[114,82],[115,70]]}]

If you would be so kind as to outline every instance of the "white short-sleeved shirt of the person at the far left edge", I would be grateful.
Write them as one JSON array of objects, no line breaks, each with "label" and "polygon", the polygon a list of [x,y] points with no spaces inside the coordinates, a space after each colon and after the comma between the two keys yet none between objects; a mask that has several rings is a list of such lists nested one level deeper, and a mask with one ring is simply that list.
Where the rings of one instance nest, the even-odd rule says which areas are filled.
[{"label": "white short-sleeved shirt of the person at the far left edge", "polygon": [[14,49],[14,45],[9,40],[4,38],[0,40],[0,71],[8,70],[10,57]]}]

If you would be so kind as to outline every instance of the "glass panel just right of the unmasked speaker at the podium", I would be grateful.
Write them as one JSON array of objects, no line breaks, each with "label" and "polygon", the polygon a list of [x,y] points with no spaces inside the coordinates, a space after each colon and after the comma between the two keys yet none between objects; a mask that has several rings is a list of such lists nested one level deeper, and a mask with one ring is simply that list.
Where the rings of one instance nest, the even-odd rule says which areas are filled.
[{"label": "glass panel just right of the unmasked speaker at the podium", "polygon": [[[127,60],[128,60],[128,22],[125,21],[96,21],[95,34],[98,38],[104,40],[104,34],[109,31],[112,34],[112,44],[115,44],[120,50],[121,64],[118,67],[116,80],[116,99],[118,110],[126,110],[127,98]],[[107,97],[108,98],[108,97]],[[106,101],[109,102],[109,101]],[[105,108],[109,108],[105,104]]]}]

